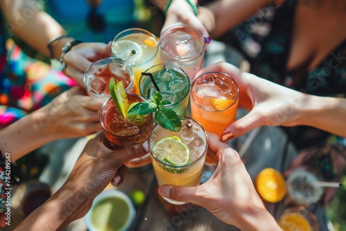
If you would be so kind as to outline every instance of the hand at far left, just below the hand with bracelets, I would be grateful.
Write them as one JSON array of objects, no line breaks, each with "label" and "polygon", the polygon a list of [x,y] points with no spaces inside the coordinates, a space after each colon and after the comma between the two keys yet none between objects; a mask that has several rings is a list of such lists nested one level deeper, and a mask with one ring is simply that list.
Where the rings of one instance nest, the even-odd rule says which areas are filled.
[{"label": "hand at far left, just below the hand with bracelets", "polygon": [[44,131],[56,139],[87,136],[100,131],[102,102],[84,93],[84,89],[74,87],[39,109],[37,116]]}]

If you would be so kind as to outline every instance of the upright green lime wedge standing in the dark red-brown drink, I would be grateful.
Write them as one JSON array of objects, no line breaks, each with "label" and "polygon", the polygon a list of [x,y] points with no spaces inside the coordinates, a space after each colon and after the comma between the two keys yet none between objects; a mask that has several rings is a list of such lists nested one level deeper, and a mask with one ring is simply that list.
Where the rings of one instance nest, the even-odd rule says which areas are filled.
[{"label": "upright green lime wedge standing in the dark red-brown drink", "polygon": [[115,84],[114,78],[111,77],[111,80],[109,80],[109,92],[111,93],[111,98],[113,99],[114,104],[116,104],[116,108],[118,109],[120,115],[127,118],[128,102],[122,81]]}]

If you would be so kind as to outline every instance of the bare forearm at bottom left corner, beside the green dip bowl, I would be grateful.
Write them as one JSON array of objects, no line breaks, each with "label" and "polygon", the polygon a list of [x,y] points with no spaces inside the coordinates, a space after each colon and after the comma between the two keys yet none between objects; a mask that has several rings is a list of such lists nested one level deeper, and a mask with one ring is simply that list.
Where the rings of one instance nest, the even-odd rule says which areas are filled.
[{"label": "bare forearm at bottom left corner, beside the green dip bowl", "polygon": [[64,185],[26,217],[16,230],[64,230],[66,225],[82,217],[91,203],[73,188],[73,185]]}]

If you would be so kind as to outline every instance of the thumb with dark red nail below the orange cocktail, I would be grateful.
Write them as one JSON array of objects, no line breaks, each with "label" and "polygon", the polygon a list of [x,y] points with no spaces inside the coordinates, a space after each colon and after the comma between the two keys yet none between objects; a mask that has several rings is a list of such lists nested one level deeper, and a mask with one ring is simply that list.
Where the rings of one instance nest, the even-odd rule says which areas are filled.
[{"label": "thumb with dark red nail below the orange cocktail", "polygon": [[255,111],[250,111],[244,117],[239,120],[235,120],[230,124],[224,132],[222,133],[221,140],[226,141],[231,138],[243,136],[255,127],[260,127],[264,125],[264,120],[261,115]]}]

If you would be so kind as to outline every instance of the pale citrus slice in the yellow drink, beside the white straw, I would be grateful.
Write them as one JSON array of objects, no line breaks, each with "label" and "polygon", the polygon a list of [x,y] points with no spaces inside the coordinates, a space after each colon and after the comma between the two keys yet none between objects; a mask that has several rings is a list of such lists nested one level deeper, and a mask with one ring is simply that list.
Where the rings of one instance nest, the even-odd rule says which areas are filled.
[{"label": "pale citrus slice in the yellow drink, beside the white straw", "polygon": [[136,55],[131,57],[131,62],[138,59],[142,55],[142,47],[136,41],[120,40],[116,41],[111,46],[112,55],[118,59],[126,60],[129,57],[131,50],[136,50]]}]

